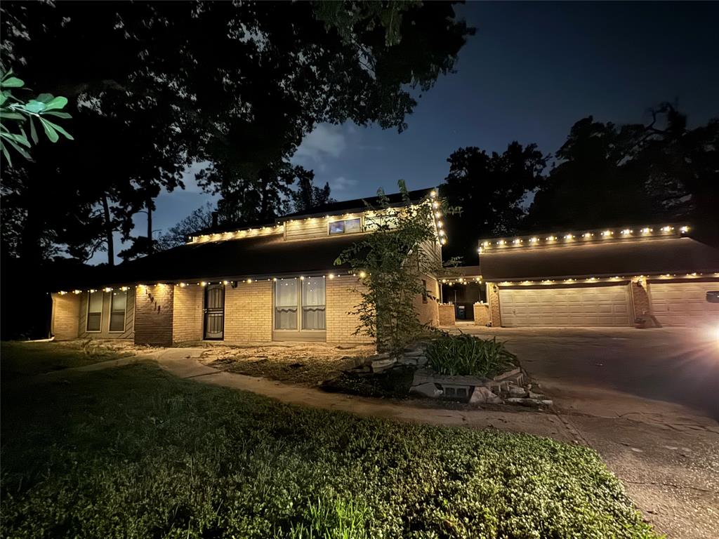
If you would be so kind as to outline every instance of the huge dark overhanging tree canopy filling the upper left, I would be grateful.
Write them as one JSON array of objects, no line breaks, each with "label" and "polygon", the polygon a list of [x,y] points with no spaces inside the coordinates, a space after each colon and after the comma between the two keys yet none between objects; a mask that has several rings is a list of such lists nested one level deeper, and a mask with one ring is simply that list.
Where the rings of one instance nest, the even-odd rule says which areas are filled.
[{"label": "huge dark overhanging tree canopy filling the upper left", "polygon": [[[54,170],[27,167],[12,188],[29,224],[18,252],[35,258],[42,236],[65,235],[81,254],[109,231],[128,236],[132,212],[182,187],[191,162],[270,189],[282,183],[268,167],[286,172],[279,165],[318,122],[403,129],[412,88],[449,73],[473,33],[451,3],[6,1],[1,15],[1,64],[27,65],[29,86],[67,96],[75,118],[76,149],[40,144],[38,161]],[[57,187],[45,191],[47,178]],[[104,226],[63,232],[95,213]]]}]

